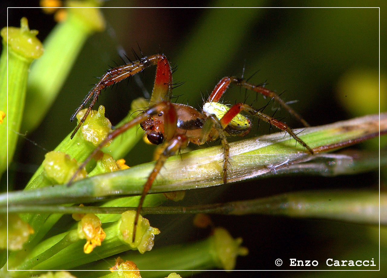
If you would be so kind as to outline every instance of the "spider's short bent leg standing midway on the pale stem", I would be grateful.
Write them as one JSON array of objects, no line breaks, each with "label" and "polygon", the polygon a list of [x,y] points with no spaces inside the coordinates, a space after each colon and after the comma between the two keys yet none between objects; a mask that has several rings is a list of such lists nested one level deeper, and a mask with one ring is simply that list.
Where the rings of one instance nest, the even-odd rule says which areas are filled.
[{"label": "spider's short bent leg standing midway on the pale stem", "polygon": [[212,130],[212,127],[216,128],[219,138],[222,142],[223,147],[223,183],[227,183],[227,166],[229,164],[229,145],[227,142],[226,134],[224,133],[224,127],[221,124],[221,121],[216,117],[215,114],[211,114],[205,120],[203,128],[200,132],[199,144],[204,144],[207,141],[207,138]]}]

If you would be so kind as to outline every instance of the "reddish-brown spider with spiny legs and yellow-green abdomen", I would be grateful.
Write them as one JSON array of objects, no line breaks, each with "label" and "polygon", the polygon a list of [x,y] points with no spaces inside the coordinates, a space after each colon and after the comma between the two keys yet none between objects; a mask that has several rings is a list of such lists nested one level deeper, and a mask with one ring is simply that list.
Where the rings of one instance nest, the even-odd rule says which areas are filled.
[{"label": "reddish-brown spider with spiny legs and yellow-green abdomen", "polygon": [[[310,148],[305,142],[303,142],[303,140],[301,140],[293,132],[293,130],[283,122],[268,116],[262,113],[259,109],[255,109],[254,107],[244,103],[237,103],[232,107],[228,107],[219,103],[219,99],[222,97],[228,86],[233,83],[240,87],[262,94],[263,96],[274,99],[275,101],[279,102],[279,104],[284,107],[291,115],[303,123],[304,126],[309,126],[308,123],[293,109],[291,109],[291,107],[289,107],[277,94],[265,89],[262,86],[247,83],[241,78],[232,76],[222,78],[210,94],[207,102],[204,103],[201,112],[197,111],[191,106],[171,102],[173,86],[172,70],[166,56],[161,54],[146,56],[140,58],[138,61],[130,61],[130,63],[126,65],[108,70],[101,78],[101,80],[99,80],[94,88],[87,94],[87,96],[82,101],[82,104],[72,115],[71,121],[75,118],[77,113],[86,106],[87,102],[91,100],[89,107],[86,109],[86,113],[79,121],[79,124],[73,131],[71,138],[74,137],[77,130],[84,123],[87,115],[91,112],[92,106],[97,101],[97,98],[102,89],[113,85],[116,82],[120,82],[121,80],[128,78],[136,73],[142,72],[142,70],[152,65],[156,65],[156,78],[154,81],[152,96],[149,102],[149,108],[139,114],[139,116],[134,118],[132,121],[113,130],[78,169],[78,171],[80,171],[80,169],[86,166],[92,157],[94,157],[94,155],[96,155],[96,153],[98,153],[99,150],[101,150],[101,148],[106,145],[106,143],[137,124],[140,124],[141,128],[145,131],[147,138],[151,143],[155,145],[164,143],[163,151],[161,152],[159,158],[156,160],[153,171],[149,174],[141,194],[139,205],[137,206],[132,241],[135,240],[137,222],[145,196],[151,188],[152,183],[156,179],[160,169],[163,167],[164,162],[168,157],[187,147],[189,142],[202,145],[205,142],[220,138],[223,147],[222,176],[223,182],[227,182],[227,167],[229,164],[229,146],[227,142],[227,136],[244,136],[250,131],[251,128],[250,120],[240,114],[241,111],[245,111],[253,116],[257,116],[259,119],[267,121],[280,130],[289,133],[289,135],[291,135],[296,140],[296,142],[303,145],[303,147],[305,147],[308,152],[313,154],[313,149]],[[77,173],[75,173],[73,177],[75,177],[76,174]],[[73,178],[68,184],[70,184],[72,180]]]}]

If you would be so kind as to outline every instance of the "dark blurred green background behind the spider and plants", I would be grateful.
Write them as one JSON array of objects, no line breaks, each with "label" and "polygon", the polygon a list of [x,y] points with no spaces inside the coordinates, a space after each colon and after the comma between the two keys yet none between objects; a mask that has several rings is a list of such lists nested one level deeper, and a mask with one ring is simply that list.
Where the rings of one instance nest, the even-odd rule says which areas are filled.
[{"label": "dark blurred green background behind the spider and plants", "polygon": [[[154,5],[151,1],[111,0],[111,7]],[[157,5],[186,5],[188,2],[162,2]],[[231,6],[233,1],[202,1],[195,5]],[[341,6],[348,2],[303,2],[304,5]],[[362,1],[351,2],[362,6]],[[36,4],[38,5],[38,4]],[[298,7],[298,1],[247,1],[243,5],[262,7]],[[367,5],[380,6],[383,2]],[[382,11],[383,9],[381,9]],[[172,66],[175,82],[185,82],[174,90],[177,102],[195,108],[202,105],[217,82],[226,75],[250,77],[250,82],[260,84],[280,93],[285,101],[297,100],[291,106],[312,126],[349,119],[354,116],[378,113],[378,62],[379,62],[379,10],[378,9],[102,9],[108,29],[94,34],[86,41],[73,70],[57,100],[42,124],[27,132],[28,140],[21,138],[15,162],[10,165],[10,176],[16,188],[23,188],[34,169],[43,160],[46,150],[53,150],[75,127],[69,119],[83,97],[103,75],[104,70],[122,64],[118,50],[124,49],[134,59],[132,48],[144,55],[164,53]],[[39,9],[9,9],[9,25],[19,26],[26,16],[31,29],[38,29],[43,41],[55,26],[51,15]],[[381,26],[385,18],[381,15]],[[382,33],[382,32],[381,32]],[[69,38],[71,39],[71,38]],[[382,49],[385,37],[380,38]],[[60,55],[60,53],[58,53]],[[63,57],[66,59],[66,57]],[[385,80],[386,63],[380,67],[380,110],[387,108]],[[140,74],[146,90],[151,92],[154,68]],[[106,115],[113,125],[125,116],[130,102],[144,96],[134,80],[122,82],[115,88],[104,90],[99,104],[106,107]],[[224,98],[227,104],[245,101],[255,107],[267,103],[262,97],[255,101],[255,94],[233,86]],[[96,108],[96,107],[95,107]],[[278,106],[270,104],[265,113],[273,114]],[[300,127],[286,111],[276,117],[291,127]],[[139,131],[141,132],[141,131]],[[269,125],[253,128],[250,136],[269,132]],[[276,131],[275,131],[276,132]],[[32,142],[36,143],[33,144]],[[375,141],[376,142],[376,141]],[[373,143],[356,146],[377,149]],[[43,148],[45,150],[43,150]],[[127,156],[128,165],[152,160],[152,146],[140,142]],[[259,186],[259,188],[257,188]],[[385,181],[382,181],[385,188]],[[241,182],[216,189],[188,192],[187,204],[259,198],[288,191],[307,189],[377,189],[377,173],[358,174],[335,178],[279,177]],[[208,196],[212,196],[209,200]],[[159,217],[150,217],[151,223]],[[157,244],[170,244],[202,237],[204,231],[187,227],[187,234],[180,239],[168,239],[168,230],[180,230],[182,217],[163,216],[168,226],[157,238]],[[190,221],[189,218],[187,217]],[[226,226],[235,237],[241,236],[250,250],[247,257],[239,258],[238,269],[278,269],[274,260],[281,258],[317,259],[319,269],[325,268],[327,258],[371,259],[378,263],[377,227],[365,227],[327,220],[298,220],[282,217],[219,217],[212,220]],[[154,224],[156,227],[157,224]],[[161,225],[161,224],[160,224]],[[165,233],[164,233],[165,231]],[[179,232],[180,233],[180,232]],[[387,233],[381,235],[382,251],[386,250]],[[384,261],[385,266],[387,261]],[[288,269],[283,266],[280,269]],[[307,269],[307,268],[305,268]],[[312,268],[313,269],[313,268]],[[315,268],[317,269],[317,268]],[[290,276],[328,276],[330,273],[291,273]],[[216,275],[216,273],[214,273]],[[247,276],[248,273],[218,273],[223,277]],[[259,275],[252,273],[251,275]],[[274,275],[274,273],[272,273]],[[384,273],[341,272],[337,276],[384,277]],[[208,276],[208,273],[204,276]],[[203,277],[204,277],[203,276]],[[267,275],[269,276],[269,275]],[[288,273],[276,276],[289,277]]]}]

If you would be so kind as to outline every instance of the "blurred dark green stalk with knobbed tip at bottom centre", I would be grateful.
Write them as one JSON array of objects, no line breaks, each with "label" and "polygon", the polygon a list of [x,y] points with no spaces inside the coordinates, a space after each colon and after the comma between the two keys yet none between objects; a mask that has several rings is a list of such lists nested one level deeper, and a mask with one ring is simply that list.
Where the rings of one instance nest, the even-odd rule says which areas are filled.
[{"label": "blurred dark green stalk with knobbed tip at bottom centre", "polygon": [[[124,261],[135,262],[140,269],[141,276],[144,278],[164,277],[175,271],[182,276],[191,276],[192,271],[185,270],[233,269],[237,256],[245,256],[248,252],[247,248],[240,246],[241,243],[241,238],[233,239],[225,229],[217,227],[213,230],[211,236],[201,241],[160,247],[144,254],[127,252],[121,258]],[[111,259],[87,264],[84,267],[95,270],[107,270],[111,267],[109,264]],[[164,270],[146,271],[159,269]],[[90,273],[85,273],[85,278],[95,275],[96,273],[91,271]],[[108,274],[103,277],[109,278],[113,276]]]}]

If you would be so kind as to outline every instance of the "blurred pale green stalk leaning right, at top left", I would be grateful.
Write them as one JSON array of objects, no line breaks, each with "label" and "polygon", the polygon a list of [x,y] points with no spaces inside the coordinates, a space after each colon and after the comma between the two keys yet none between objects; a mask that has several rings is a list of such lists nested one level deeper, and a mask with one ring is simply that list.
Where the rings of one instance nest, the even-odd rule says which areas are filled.
[{"label": "blurred pale green stalk leaning right, at top left", "polygon": [[45,55],[33,64],[28,78],[27,105],[23,118],[26,130],[35,129],[45,116],[86,39],[92,33],[104,29],[105,23],[99,8],[92,7],[97,4],[96,1],[68,2],[70,6],[72,3],[90,7],[74,6],[67,9],[67,19],[55,26],[45,40]]}]

